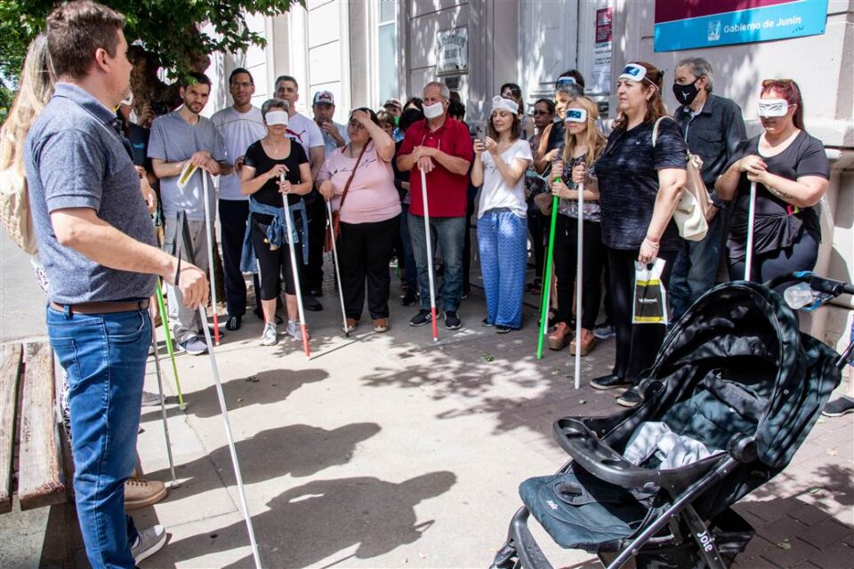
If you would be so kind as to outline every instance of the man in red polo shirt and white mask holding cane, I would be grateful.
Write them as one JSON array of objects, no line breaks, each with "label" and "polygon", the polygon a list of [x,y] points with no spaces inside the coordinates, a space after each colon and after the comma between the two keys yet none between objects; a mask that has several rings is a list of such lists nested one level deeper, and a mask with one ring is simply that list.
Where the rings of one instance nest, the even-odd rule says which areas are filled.
[{"label": "man in red polo shirt and white mask holding cane", "polygon": [[[430,213],[431,240],[439,241],[445,274],[439,296],[445,312],[445,325],[455,330],[463,325],[457,310],[463,293],[463,241],[465,236],[466,193],[473,148],[468,129],[447,116],[450,92],[436,81],[424,86],[423,121],[407,129],[398,153],[398,169],[412,171],[410,176],[409,232],[418,266],[421,309],[410,325],[430,324],[430,277],[427,273],[427,236],[424,232],[424,204],[421,172],[427,180],[427,205]],[[434,247],[435,251],[435,247]]]}]

